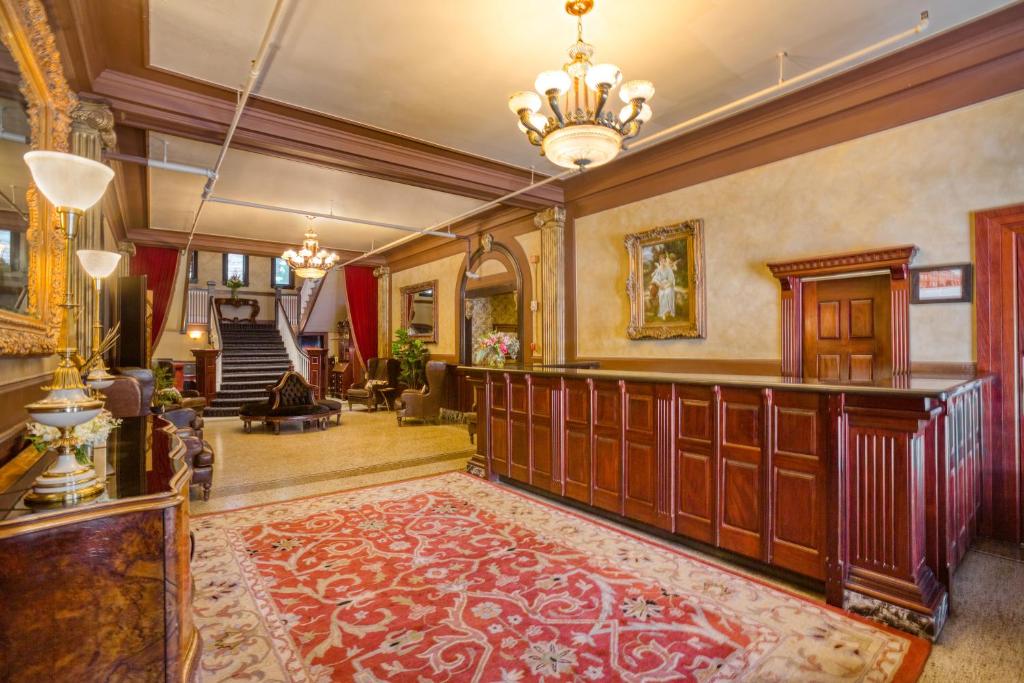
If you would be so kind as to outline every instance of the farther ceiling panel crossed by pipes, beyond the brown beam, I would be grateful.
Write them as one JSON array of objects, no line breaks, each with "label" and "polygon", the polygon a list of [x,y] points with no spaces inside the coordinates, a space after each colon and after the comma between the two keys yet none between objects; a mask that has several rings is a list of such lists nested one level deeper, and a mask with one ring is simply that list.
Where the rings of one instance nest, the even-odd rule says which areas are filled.
[{"label": "farther ceiling panel crossed by pipes, beyond the brown beam", "polygon": [[[204,168],[213,166],[220,150],[214,144],[151,132],[151,158],[163,158],[164,140],[168,142],[168,159]],[[151,227],[187,231],[206,177],[151,168],[148,178]],[[475,199],[240,150],[228,151],[214,196],[412,227],[426,227],[480,204]],[[305,217],[296,214],[209,203],[197,231],[298,243],[306,222]],[[321,244],[331,249],[368,251],[409,234],[324,218],[314,222]]]}]

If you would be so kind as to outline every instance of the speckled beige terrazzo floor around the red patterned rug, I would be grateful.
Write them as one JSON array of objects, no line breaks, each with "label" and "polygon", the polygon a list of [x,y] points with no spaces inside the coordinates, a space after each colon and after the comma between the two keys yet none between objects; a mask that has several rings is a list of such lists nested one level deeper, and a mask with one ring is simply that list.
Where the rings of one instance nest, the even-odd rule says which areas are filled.
[{"label": "speckled beige terrazzo floor around the red patterned rug", "polygon": [[[341,427],[332,422],[327,431],[301,432],[292,426],[280,435],[259,427],[246,434],[237,418],[210,418],[205,436],[217,454],[214,484],[209,501],[194,497],[194,515],[462,471],[473,450],[464,426],[399,428],[386,412],[345,412]],[[1024,549],[976,543],[956,572],[952,596],[921,681],[1024,683]]]}]

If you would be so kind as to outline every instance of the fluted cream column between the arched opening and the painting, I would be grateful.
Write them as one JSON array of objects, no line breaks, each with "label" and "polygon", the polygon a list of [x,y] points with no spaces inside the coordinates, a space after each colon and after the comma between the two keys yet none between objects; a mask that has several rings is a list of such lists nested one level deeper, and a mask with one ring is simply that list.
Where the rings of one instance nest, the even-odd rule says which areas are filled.
[{"label": "fluted cream column between the arched opening and the painting", "polygon": [[541,229],[541,354],[544,362],[565,362],[565,209],[545,209],[534,224]]}]

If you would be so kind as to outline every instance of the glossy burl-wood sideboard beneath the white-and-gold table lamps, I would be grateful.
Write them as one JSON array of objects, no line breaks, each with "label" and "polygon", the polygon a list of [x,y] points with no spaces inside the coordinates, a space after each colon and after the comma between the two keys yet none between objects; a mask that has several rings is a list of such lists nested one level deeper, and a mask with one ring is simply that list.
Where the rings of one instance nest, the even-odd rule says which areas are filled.
[{"label": "glossy burl-wood sideboard beneath the white-and-gold table lamps", "polygon": [[0,680],[193,678],[184,446],[146,416],[125,418],[105,450],[105,494],[69,508],[22,502],[53,454],[0,468]]}]

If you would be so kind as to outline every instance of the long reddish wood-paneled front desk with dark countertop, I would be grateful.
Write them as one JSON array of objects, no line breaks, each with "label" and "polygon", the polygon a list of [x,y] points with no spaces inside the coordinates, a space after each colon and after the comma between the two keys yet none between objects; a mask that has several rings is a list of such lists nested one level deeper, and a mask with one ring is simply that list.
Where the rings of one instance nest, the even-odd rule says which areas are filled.
[{"label": "long reddish wood-paneled front desk with dark countertop", "polygon": [[[490,478],[819,581],[934,637],[981,504],[988,381],[460,368]],[[484,431],[485,430],[485,431]]]}]

